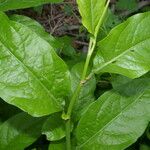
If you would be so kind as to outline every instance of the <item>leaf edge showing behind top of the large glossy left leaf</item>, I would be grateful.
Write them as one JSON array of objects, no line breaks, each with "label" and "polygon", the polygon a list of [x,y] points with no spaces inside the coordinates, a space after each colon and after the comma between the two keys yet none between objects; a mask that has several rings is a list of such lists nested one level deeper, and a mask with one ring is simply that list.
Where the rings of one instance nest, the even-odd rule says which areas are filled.
[{"label": "leaf edge showing behind top of the large glossy left leaf", "polygon": [[15,22],[19,22],[27,26],[32,31],[36,32],[36,34],[38,34],[41,38],[46,40],[57,53],[60,51],[59,49],[61,49],[61,43],[58,40],[56,40],[52,35],[47,33],[43,26],[37,21],[22,15],[11,15],[9,18]]}]

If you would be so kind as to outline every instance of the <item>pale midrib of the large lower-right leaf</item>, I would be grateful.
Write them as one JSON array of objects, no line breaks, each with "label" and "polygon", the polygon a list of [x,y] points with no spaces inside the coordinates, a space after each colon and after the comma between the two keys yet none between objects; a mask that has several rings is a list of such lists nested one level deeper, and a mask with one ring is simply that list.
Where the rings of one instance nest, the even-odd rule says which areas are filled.
[{"label": "pale midrib of the large lower-right leaf", "polygon": [[82,143],[79,148],[83,147],[86,143],[88,143],[89,141],[91,141],[93,138],[95,138],[97,136],[97,134],[99,134],[103,129],[107,128],[114,120],[116,120],[123,112],[125,112],[125,110],[128,109],[128,107],[130,107],[131,105],[133,105],[134,103],[136,103],[139,98],[141,98],[143,95],[145,94],[145,91],[143,93],[141,93],[136,99],[135,101],[129,103],[117,116],[115,116],[113,119],[111,119],[104,127],[102,127],[98,132],[96,132],[93,136],[91,136],[86,142]]}]

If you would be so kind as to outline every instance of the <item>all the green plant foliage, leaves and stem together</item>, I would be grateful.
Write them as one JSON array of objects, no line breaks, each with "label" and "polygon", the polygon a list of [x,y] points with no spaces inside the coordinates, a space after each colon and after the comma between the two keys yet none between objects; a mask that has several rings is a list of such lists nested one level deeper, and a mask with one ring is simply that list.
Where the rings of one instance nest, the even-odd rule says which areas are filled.
[{"label": "all the green plant foliage, leaves and stem together", "polygon": [[[90,34],[84,63],[68,37],[55,39],[35,20],[2,12],[48,2],[61,0],[0,2],[0,150],[24,150],[42,134],[50,150],[122,150],[144,132],[150,139],[150,12],[99,40],[109,1],[77,0]],[[104,94],[102,75],[112,85]]]}]

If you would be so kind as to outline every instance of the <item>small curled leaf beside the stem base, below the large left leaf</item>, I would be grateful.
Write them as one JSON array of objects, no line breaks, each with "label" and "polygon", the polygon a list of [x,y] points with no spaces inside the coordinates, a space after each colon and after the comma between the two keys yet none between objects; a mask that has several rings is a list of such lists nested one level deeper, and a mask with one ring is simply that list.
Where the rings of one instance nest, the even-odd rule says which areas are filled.
[{"label": "small curled leaf beside the stem base, below the large left leaf", "polygon": [[55,113],[48,117],[43,125],[42,134],[45,134],[49,141],[65,137],[65,121],[61,118],[61,113]]}]

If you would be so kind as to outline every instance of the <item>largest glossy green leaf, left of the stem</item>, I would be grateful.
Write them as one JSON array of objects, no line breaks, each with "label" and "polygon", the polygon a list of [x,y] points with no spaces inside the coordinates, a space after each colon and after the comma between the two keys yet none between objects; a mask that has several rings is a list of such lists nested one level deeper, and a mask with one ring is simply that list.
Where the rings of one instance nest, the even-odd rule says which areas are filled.
[{"label": "largest glossy green leaf, left of the stem", "polygon": [[70,91],[65,63],[45,40],[20,23],[3,17],[0,31],[0,97],[33,116],[62,110]]}]

